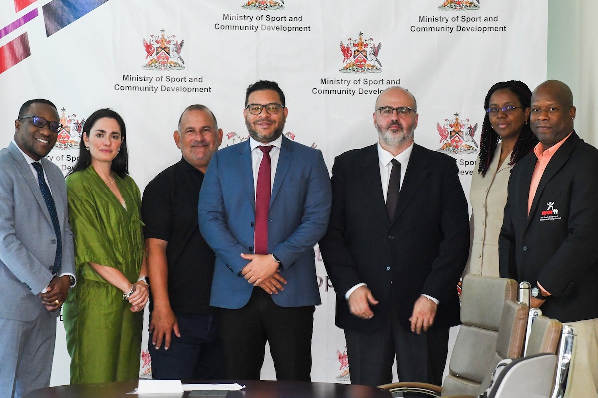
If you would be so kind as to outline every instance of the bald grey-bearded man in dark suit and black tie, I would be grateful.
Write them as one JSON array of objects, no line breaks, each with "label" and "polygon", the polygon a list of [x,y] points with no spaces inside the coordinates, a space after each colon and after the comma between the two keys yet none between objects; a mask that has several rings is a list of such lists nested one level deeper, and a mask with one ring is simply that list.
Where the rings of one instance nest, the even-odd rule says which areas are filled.
[{"label": "bald grey-bearded man in dark suit and black tie", "polygon": [[351,382],[441,384],[457,283],[469,251],[468,205],[455,160],[413,142],[416,100],[390,87],[376,100],[378,143],[332,168],[332,211],[320,242],[337,294]]}]

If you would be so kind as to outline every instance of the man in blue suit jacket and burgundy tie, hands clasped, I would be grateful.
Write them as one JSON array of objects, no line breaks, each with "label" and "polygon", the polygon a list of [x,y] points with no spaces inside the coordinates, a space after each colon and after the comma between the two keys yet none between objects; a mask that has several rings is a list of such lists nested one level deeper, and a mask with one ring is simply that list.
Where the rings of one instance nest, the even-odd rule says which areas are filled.
[{"label": "man in blue suit jacket and burgundy tie, hands clasped", "polygon": [[277,380],[311,380],[313,313],[321,304],[313,246],[331,207],[319,150],[282,136],[288,109],[276,82],[245,96],[249,140],[216,152],[199,196],[199,224],[216,253],[228,377],[259,380],[266,341]]}]

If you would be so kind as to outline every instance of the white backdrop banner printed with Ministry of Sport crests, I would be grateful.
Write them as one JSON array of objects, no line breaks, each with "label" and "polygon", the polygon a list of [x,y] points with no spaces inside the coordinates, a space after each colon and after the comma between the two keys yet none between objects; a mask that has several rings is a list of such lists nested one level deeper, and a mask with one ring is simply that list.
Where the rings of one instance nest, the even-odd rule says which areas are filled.
[{"label": "white backdrop banner printed with Ministry of Sport crests", "polygon": [[[68,125],[48,158],[66,174],[83,119],[111,107],[127,124],[130,172],[141,189],[180,158],[172,132],[185,107],[210,107],[228,146],[248,135],[245,88],[271,79],[285,91],[285,135],[321,149],[329,168],[340,153],[376,141],[377,94],[408,88],[417,98],[416,142],[454,156],[469,192],[488,88],[519,79],[533,89],[546,77],[543,0],[471,1],[462,10],[444,0],[255,2],[266,10],[243,8],[246,0],[16,5],[23,3],[0,2],[0,147],[12,139],[21,104],[48,98]],[[316,254],[323,304],[312,378],[348,381],[334,289]],[[60,325],[52,384],[68,383],[68,362]],[[263,378],[273,377],[268,362]]]}]

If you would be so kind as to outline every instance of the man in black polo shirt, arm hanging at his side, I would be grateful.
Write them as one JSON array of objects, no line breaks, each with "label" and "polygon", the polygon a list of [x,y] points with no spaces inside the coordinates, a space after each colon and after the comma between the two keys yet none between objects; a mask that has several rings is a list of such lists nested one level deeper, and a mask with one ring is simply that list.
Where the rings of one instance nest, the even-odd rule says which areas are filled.
[{"label": "man in black polo shirt, arm hanging at his side", "polygon": [[151,295],[148,351],[155,379],[225,378],[210,303],[214,252],[197,223],[206,167],[222,129],[205,106],[185,109],[174,133],[182,159],[145,187],[145,223]]}]

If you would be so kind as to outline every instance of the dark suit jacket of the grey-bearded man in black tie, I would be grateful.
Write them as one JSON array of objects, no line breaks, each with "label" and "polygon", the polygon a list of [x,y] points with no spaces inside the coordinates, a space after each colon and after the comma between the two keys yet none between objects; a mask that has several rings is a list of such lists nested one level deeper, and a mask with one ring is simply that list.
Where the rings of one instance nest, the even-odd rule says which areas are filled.
[{"label": "dark suit jacket of the grey-bearded man in black tie", "polygon": [[[385,316],[409,327],[422,293],[440,301],[435,328],[459,323],[457,283],[469,251],[469,217],[458,172],[450,156],[414,144],[390,220],[377,146],[335,159],[330,225],[320,249],[337,293],[339,328],[374,332]],[[379,301],[372,319],[350,314],[344,297],[360,282]]]}]

